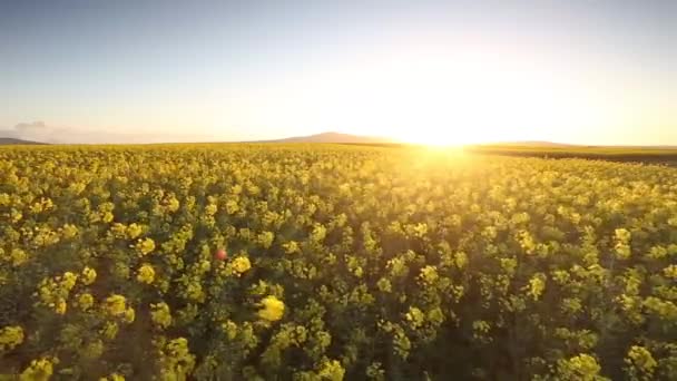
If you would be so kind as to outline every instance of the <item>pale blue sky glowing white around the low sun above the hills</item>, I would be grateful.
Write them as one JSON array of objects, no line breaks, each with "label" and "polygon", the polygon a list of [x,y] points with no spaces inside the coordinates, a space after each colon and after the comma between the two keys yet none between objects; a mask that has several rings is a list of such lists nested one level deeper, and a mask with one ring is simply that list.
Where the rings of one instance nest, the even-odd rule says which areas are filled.
[{"label": "pale blue sky glowing white around the low sun above the hills", "polygon": [[0,130],[677,145],[677,1],[0,1]]}]

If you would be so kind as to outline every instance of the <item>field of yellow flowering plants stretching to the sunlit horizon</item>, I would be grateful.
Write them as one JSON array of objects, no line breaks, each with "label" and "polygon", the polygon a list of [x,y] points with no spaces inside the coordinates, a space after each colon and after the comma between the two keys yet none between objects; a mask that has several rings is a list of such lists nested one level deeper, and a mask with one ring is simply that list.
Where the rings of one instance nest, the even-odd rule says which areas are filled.
[{"label": "field of yellow flowering plants stretching to the sunlit horizon", "polygon": [[676,380],[676,343],[671,167],[0,148],[0,374]]}]

